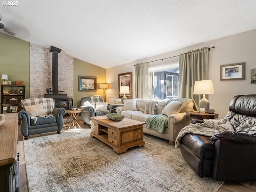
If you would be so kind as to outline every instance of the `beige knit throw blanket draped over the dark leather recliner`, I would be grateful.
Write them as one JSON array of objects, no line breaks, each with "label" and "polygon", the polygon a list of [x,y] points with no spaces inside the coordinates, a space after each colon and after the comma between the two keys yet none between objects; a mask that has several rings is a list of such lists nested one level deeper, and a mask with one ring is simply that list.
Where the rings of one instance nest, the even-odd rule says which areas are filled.
[{"label": "beige knit throw blanket draped over the dark leather recliner", "polygon": [[205,119],[203,123],[189,124],[180,130],[176,141],[175,148],[180,147],[180,139],[186,135],[187,133],[198,134],[203,136],[211,137],[217,131],[232,131],[234,132],[234,128],[229,120],[220,119]]}]

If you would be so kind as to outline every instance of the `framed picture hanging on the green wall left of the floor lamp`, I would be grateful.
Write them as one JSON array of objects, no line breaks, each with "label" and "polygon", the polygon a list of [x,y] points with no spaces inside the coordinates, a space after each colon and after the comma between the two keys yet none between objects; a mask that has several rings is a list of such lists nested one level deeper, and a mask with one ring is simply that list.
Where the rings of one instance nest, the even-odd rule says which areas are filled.
[{"label": "framed picture hanging on the green wall left of the floor lamp", "polygon": [[78,91],[97,91],[97,77],[78,76]]}]

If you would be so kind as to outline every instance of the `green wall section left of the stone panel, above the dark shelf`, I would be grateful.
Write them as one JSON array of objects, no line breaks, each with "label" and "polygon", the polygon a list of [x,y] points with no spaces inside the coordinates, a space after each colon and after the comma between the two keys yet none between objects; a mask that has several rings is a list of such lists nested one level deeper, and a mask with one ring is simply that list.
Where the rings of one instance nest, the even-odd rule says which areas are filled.
[{"label": "green wall section left of the stone panel, above the dark shelf", "polygon": [[29,98],[29,42],[0,32],[0,77],[2,74],[7,74],[12,84],[24,81]]}]

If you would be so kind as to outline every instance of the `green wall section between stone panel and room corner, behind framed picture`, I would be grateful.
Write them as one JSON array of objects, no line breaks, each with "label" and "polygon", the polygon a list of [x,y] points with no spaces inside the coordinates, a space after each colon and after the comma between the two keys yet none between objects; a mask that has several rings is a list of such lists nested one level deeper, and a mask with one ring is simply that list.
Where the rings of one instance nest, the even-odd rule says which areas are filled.
[{"label": "green wall section between stone panel and room corner, behind framed picture", "polygon": [[[97,91],[78,91],[78,76],[96,76]],[[81,98],[92,95],[102,95],[100,83],[106,83],[106,69],[74,58],[74,106],[79,108]]]}]

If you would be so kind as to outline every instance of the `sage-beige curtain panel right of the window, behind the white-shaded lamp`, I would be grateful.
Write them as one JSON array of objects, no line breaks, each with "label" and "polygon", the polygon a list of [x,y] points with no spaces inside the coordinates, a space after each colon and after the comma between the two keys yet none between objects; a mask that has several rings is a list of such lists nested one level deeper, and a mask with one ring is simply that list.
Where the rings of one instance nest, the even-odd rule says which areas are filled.
[{"label": "sage-beige curtain panel right of the window, behind the white-shaded lamp", "polygon": [[[194,95],[194,82],[208,80],[209,47],[180,54],[179,97],[192,98],[199,106],[202,95]],[[208,97],[208,95],[207,95]]]}]

